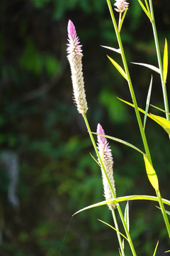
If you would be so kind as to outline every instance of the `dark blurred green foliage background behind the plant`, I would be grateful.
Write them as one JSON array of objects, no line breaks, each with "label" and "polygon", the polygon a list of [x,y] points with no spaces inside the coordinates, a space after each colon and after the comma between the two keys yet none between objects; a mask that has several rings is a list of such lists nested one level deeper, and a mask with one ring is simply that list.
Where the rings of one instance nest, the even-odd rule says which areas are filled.
[{"label": "dark blurred green foliage background behind the plant", "polygon": [[[157,56],[151,23],[137,0],[129,2],[121,36],[137,102],[145,109],[153,72],[130,61],[157,66]],[[170,4],[153,0],[153,5],[163,53],[164,38],[170,38]],[[115,232],[97,220],[113,224],[107,206],[72,218],[80,208],[103,201],[103,188],[101,171],[89,155],[95,153],[84,120],[72,100],[66,53],[69,18],[83,44],[92,131],[100,122],[106,134],[144,150],[134,110],[116,99],[131,102],[127,82],[106,58],[108,54],[122,65],[120,55],[100,46],[118,48],[106,1],[1,0],[1,256],[119,255]],[[160,78],[153,75],[151,104],[164,108]],[[169,93],[169,82],[167,89]],[[149,119],[146,134],[162,197],[169,199],[169,138]],[[113,141],[111,149],[117,196],[154,196],[142,156]],[[120,206],[124,210],[125,204]],[[120,230],[124,233],[121,224]],[[130,233],[137,255],[153,255],[157,240],[157,255],[170,249],[155,203],[130,202]],[[131,255],[128,243],[125,248]]]}]

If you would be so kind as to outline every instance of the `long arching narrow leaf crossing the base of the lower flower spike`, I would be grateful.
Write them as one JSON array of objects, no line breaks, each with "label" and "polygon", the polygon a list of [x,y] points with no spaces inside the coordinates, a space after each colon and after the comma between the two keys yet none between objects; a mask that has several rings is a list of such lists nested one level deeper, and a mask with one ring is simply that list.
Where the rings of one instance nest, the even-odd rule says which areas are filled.
[{"label": "long arching narrow leaf crossing the base of the lower flower spike", "polygon": [[[112,200],[105,200],[101,201],[99,203],[94,203],[91,206],[86,206],[82,208],[81,210],[78,210],[76,213],[74,213],[72,216],[76,215],[77,213],[81,213],[84,210],[89,210],[91,208],[95,208],[98,206],[105,206],[108,203],[120,203],[124,201],[132,201],[132,200],[147,200],[147,201],[156,201],[158,202],[158,198],[156,196],[144,196],[144,195],[132,195],[132,196],[121,196]],[[162,202],[165,203],[166,205],[170,206],[170,201],[167,199],[162,198]]]}]

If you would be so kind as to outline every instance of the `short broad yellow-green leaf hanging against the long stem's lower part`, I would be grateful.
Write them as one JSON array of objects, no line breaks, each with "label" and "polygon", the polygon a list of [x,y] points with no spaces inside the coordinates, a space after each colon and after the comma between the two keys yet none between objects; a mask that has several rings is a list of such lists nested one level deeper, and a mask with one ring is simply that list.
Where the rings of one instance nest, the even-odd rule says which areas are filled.
[{"label": "short broad yellow-green leaf hanging against the long stem's lower part", "polygon": [[152,164],[150,164],[149,160],[147,157],[144,155],[144,161],[145,161],[145,167],[147,171],[147,177],[149,178],[150,183],[154,187],[156,191],[159,190],[159,184],[158,184],[158,178],[157,174],[154,171],[154,168],[152,167]]}]

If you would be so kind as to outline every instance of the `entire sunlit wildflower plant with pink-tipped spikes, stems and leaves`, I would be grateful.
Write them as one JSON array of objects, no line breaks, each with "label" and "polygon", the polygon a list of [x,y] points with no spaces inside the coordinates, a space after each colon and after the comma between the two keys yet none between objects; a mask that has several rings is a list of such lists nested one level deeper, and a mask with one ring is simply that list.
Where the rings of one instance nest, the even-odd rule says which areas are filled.
[{"label": "entire sunlit wildflower plant with pink-tipped spikes, stems and leaves", "polygon": [[[135,114],[137,117],[137,123],[140,129],[140,134],[144,146],[144,150],[142,151],[137,148],[137,146],[134,146],[130,144],[129,142],[125,142],[122,139],[118,139],[115,137],[111,137],[105,134],[103,127],[101,124],[97,125],[97,130],[96,132],[91,132],[89,122],[86,118],[86,111],[87,111],[87,102],[86,102],[86,94],[84,90],[84,78],[83,78],[83,71],[82,71],[82,63],[81,63],[81,58],[83,56],[82,50],[81,50],[81,45],[79,44],[79,38],[77,37],[77,32],[74,27],[74,24],[72,21],[69,21],[68,23],[68,48],[67,48],[67,58],[69,60],[69,65],[71,68],[71,73],[72,73],[72,85],[73,85],[73,92],[74,92],[74,101],[77,105],[77,110],[82,116],[84,117],[84,122],[86,124],[86,127],[89,132],[89,136],[91,138],[91,142],[94,146],[94,149],[96,151],[97,159],[94,159],[98,165],[100,166],[101,169],[101,174],[102,174],[102,179],[103,179],[103,191],[104,191],[104,197],[105,200],[99,203],[95,203],[92,206],[87,206],[79,211],[77,213],[81,212],[82,210],[87,210],[93,207],[97,206],[103,206],[108,204],[108,208],[111,210],[112,215],[113,215],[113,222],[115,227],[112,225],[109,225],[108,223],[105,223],[101,220],[101,222],[105,223],[109,227],[113,228],[115,232],[118,235],[118,242],[120,245],[120,255],[125,256],[125,246],[124,246],[124,238],[125,240],[128,241],[128,244],[130,246],[130,250],[132,252],[133,256],[137,255],[137,252],[135,250],[135,247],[133,245],[131,236],[130,236],[130,219],[129,219],[129,207],[128,203],[125,208],[125,213],[123,215],[123,212],[120,208],[120,202],[121,201],[130,201],[130,200],[147,200],[147,201],[157,201],[159,203],[159,209],[162,212],[162,216],[164,218],[164,223],[166,225],[166,230],[167,230],[167,235],[169,235],[170,239],[170,225],[169,225],[169,220],[167,217],[167,214],[170,215],[168,211],[165,210],[164,204],[167,204],[170,206],[170,201],[162,198],[160,190],[159,190],[159,180],[157,178],[156,171],[154,170],[153,164],[152,164],[152,156],[149,151],[149,145],[147,143],[147,137],[145,134],[145,125],[146,125],[146,120],[147,117],[151,118],[154,120],[154,122],[157,122],[162,128],[165,130],[167,134],[170,136],[170,113],[169,113],[169,103],[168,103],[168,96],[166,92],[166,77],[167,77],[167,70],[168,70],[168,46],[167,46],[167,41],[165,39],[165,46],[164,46],[164,58],[163,58],[163,64],[162,64],[162,58],[159,50],[159,41],[157,37],[157,29],[154,21],[154,11],[153,11],[153,6],[152,6],[152,0],[145,0],[145,2],[142,2],[142,0],[138,0],[140,6],[142,7],[142,10],[145,12],[147,17],[149,18],[149,21],[152,23],[152,29],[154,33],[154,41],[155,41],[155,46],[156,46],[156,52],[157,52],[157,59],[158,59],[158,65],[159,68],[154,67],[153,65],[146,64],[146,63],[135,63],[137,65],[144,65],[147,68],[152,69],[154,72],[159,73],[160,75],[160,80],[162,84],[162,91],[163,91],[163,99],[164,99],[164,107],[165,110],[160,111],[164,112],[166,114],[166,118],[164,117],[159,117],[155,114],[149,114],[148,109],[149,109],[149,100],[150,100],[150,95],[151,95],[151,90],[152,90],[152,78],[149,83],[149,91],[147,95],[147,102],[146,102],[146,107],[145,110],[140,109],[137,105],[137,100],[135,97],[135,92],[133,89],[132,85],[132,80],[130,78],[130,72],[128,69],[128,63],[125,57],[125,52],[123,49],[123,43],[121,41],[121,35],[120,31],[123,26],[123,21],[125,19],[125,15],[128,11],[128,8],[130,8],[130,4],[128,1],[125,0],[116,0],[113,3],[113,6],[111,4],[110,0],[106,0],[108,4],[108,9],[111,14],[111,19],[113,21],[113,27],[115,29],[115,34],[117,36],[118,40],[118,49],[117,48],[111,48],[108,46],[104,46],[105,48],[108,48],[109,50],[113,50],[116,54],[119,53],[121,55],[122,61],[123,61],[123,68],[121,67],[120,64],[116,63],[113,58],[108,56],[108,60],[111,61],[113,66],[118,70],[120,75],[125,78],[125,80],[128,83],[128,87],[130,90],[130,95],[132,97],[132,103],[127,102],[125,100],[121,100],[124,102],[126,105],[130,105],[131,107],[134,107],[135,109]],[[114,7],[114,10],[113,10]],[[119,13],[119,21],[118,24],[115,19],[115,14]],[[156,107],[157,108],[157,107]],[[145,114],[144,122],[142,123],[142,119],[140,117],[140,112]],[[97,144],[94,139],[94,134],[97,135]],[[149,182],[151,183],[152,187],[154,188],[154,191],[156,193],[156,196],[142,196],[142,195],[132,195],[132,196],[124,196],[122,198],[116,197],[115,193],[115,181],[113,178],[113,156],[111,153],[111,148],[108,145],[108,140],[111,139],[113,141],[120,142],[121,144],[125,144],[126,146],[130,146],[132,149],[137,150],[141,154],[141,159],[145,163],[145,169],[147,171],[147,176],[149,179]],[[93,156],[94,158],[94,156]],[[77,213],[74,213],[77,214]],[[120,216],[120,220],[123,224],[123,228],[125,230],[125,235],[123,233],[120,233],[119,227],[118,227],[118,222],[117,222],[117,213]],[[156,254],[157,251],[157,245],[155,247],[153,256]],[[167,251],[169,252],[169,251]]]}]

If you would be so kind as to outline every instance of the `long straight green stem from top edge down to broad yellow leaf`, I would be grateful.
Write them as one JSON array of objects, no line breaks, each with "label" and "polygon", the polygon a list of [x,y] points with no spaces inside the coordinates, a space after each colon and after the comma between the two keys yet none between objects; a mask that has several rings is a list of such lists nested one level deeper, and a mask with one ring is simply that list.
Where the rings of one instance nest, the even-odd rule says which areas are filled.
[{"label": "long straight green stem from top edge down to broad yellow leaf", "polygon": [[143,129],[142,120],[141,120],[141,117],[140,117],[140,112],[139,112],[138,107],[137,107],[137,100],[136,100],[136,97],[135,97],[135,92],[134,92],[133,87],[132,87],[130,73],[129,73],[129,70],[128,70],[128,65],[127,65],[126,58],[125,58],[125,53],[124,53],[124,50],[123,50],[123,44],[122,44],[122,41],[121,41],[121,38],[120,38],[120,33],[118,31],[117,23],[115,21],[115,16],[113,14],[111,1],[107,0],[107,3],[108,3],[108,9],[111,13],[111,18],[112,18],[112,21],[113,21],[113,26],[115,28],[115,33],[116,33],[116,36],[117,36],[117,39],[118,39],[118,44],[119,44],[122,59],[123,59],[123,65],[124,65],[124,68],[125,68],[125,73],[128,76],[128,85],[129,85],[129,89],[130,89],[130,94],[131,94],[131,97],[132,97],[133,105],[135,107],[135,113],[136,113],[136,117],[137,117],[137,122],[138,122],[139,127],[140,127],[140,134],[142,136],[142,141],[143,141],[143,144],[144,144],[144,147],[145,147],[145,152],[147,154],[147,159],[152,164],[152,159],[151,159],[151,156],[150,156],[149,147],[148,147],[147,139],[146,139],[146,136],[145,136],[145,131]]}]

